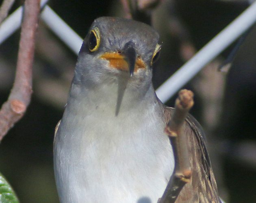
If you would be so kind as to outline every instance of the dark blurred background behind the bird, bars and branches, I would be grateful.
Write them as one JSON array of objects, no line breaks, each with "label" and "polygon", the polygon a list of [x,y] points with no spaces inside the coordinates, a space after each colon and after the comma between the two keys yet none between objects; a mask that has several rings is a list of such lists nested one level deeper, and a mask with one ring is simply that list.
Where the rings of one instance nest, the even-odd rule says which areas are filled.
[{"label": "dark blurred background behind the bird, bars and branches", "polygon": [[[0,1],[2,2],[2,1]],[[160,0],[143,7],[162,42],[154,67],[157,88],[252,2]],[[22,5],[16,0],[10,13]],[[82,38],[100,16],[124,16],[119,0],[50,0],[48,5]],[[138,17],[140,19],[140,17]],[[20,30],[0,45],[0,104],[15,76]],[[184,88],[195,93],[191,114],[206,131],[219,194],[226,202],[256,202],[256,26],[229,71],[218,71],[231,45]],[[0,171],[21,202],[57,203],[52,143],[61,119],[77,56],[39,22],[33,66],[33,95],[25,116],[0,144]],[[170,87],[171,89],[171,87]],[[176,98],[176,96],[174,96]],[[168,106],[174,106],[170,99]]]}]

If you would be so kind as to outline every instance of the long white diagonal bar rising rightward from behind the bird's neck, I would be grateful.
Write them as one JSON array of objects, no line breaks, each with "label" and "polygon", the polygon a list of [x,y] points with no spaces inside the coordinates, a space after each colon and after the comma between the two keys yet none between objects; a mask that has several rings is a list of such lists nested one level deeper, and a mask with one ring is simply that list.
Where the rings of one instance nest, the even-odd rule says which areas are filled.
[{"label": "long white diagonal bar rising rightward from behind the bird's neck", "polygon": [[255,22],[256,1],[166,80],[156,90],[158,98],[163,103],[167,102],[170,97],[191,80],[207,63],[219,55]]}]

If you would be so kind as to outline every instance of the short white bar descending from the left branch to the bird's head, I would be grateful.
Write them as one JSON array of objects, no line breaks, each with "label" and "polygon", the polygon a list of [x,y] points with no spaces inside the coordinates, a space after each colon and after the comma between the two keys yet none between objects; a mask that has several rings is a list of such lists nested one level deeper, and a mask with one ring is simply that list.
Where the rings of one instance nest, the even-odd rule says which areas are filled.
[{"label": "short white bar descending from the left branch to the bird's head", "polygon": [[41,14],[43,21],[52,31],[75,53],[78,54],[82,45],[82,38],[79,37],[48,5]]}]

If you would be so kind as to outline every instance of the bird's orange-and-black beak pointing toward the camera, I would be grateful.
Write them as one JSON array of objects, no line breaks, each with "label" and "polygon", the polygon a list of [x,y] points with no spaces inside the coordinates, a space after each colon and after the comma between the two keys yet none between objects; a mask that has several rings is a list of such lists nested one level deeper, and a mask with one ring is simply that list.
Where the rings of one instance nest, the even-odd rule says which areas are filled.
[{"label": "bird's orange-and-black beak pointing toward the camera", "polygon": [[140,68],[145,68],[144,61],[137,57],[135,44],[132,41],[127,42],[120,52],[106,52],[100,58],[109,61],[110,67],[123,71],[129,71],[130,76]]}]

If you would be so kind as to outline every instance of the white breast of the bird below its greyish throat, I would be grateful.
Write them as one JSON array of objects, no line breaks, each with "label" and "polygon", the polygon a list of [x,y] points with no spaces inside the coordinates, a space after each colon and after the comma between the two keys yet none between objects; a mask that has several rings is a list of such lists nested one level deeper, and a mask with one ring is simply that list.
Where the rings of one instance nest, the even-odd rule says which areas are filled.
[{"label": "white breast of the bird below its greyish throat", "polygon": [[141,104],[115,116],[95,102],[67,106],[54,145],[61,202],[156,203],[174,169],[160,111]]}]

